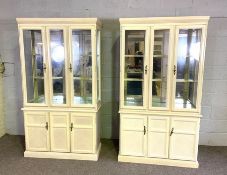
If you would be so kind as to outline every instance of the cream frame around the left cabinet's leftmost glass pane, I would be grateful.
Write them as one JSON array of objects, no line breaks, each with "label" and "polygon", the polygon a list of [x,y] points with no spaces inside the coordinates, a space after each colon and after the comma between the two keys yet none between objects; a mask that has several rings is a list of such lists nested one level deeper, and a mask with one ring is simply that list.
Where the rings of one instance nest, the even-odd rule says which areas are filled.
[{"label": "cream frame around the left cabinet's leftmost glass pane", "polygon": [[19,46],[20,46],[20,61],[21,61],[21,76],[22,76],[22,91],[24,106],[48,106],[49,105],[49,87],[48,87],[48,67],[44,70],[44,96],[45,103],[28,103],[27,99],[27,82],[26,82],[26,66],[25,66],[25,52],[24,52],[24,30],[40,30],[42,35],[42,50],[43,50],[43,64],[48,64],[47,50],[46,50],[46,32],[43,26],[33,25],[18,25],[19,29]]}]

